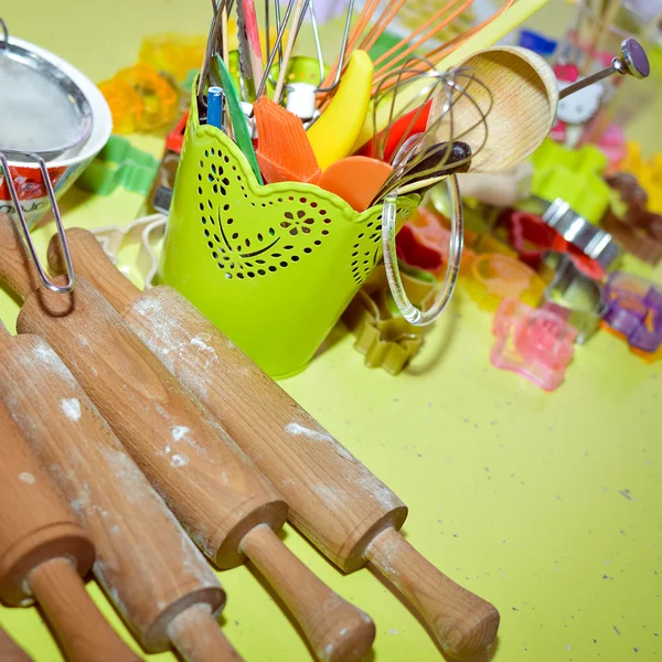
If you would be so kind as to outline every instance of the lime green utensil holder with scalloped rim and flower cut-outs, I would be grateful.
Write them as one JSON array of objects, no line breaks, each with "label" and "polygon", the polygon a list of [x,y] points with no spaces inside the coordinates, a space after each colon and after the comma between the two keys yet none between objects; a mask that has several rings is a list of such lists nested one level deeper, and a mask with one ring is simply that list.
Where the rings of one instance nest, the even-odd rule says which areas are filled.
[{"label": "lime green utensil holder with scalloped rim and flower cut-outs", "polygon": [[[397,222],[419,196],[402,196]],[[275,378],[306,367],[382,256],[382,206],[311,184],[260,186],[193,95],[159,278]]]}]

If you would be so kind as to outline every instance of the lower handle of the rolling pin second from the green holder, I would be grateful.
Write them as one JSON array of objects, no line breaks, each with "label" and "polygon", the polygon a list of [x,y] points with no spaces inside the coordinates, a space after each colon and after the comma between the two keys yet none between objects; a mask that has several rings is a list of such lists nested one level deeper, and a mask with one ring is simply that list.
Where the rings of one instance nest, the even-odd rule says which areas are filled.
[{"label": "lower handle of the rolling pin second from the green holder", "polygon": [[354,662],[370,651],[370,617],[323,584],[267,525],[244,536],[242,552],[292,612],[318,660]]}]

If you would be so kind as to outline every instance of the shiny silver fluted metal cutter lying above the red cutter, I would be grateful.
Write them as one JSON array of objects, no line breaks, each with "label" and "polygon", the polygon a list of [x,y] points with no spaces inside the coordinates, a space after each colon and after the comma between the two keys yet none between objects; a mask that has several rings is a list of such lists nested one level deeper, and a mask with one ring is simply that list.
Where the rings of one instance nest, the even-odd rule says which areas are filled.
[{"label": "shiny silver fluted metal cutter lying above the red cutter", "polygon": [[548,203],[542,197],[536,197],[538,215],[553,227],[564,239],[577,246],[585,255],[595,259],[604,269],[608,269],[620,257],[620,249],[613,237],[589,223],[570,209],[570,205],[557,197]]}]

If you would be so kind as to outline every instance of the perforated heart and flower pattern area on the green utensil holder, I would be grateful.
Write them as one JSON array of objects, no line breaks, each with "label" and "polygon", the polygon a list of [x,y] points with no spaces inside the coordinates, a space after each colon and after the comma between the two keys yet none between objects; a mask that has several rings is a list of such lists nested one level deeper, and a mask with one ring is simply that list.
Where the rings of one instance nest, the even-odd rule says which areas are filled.
[{"label": "perforated heart and flower pattern area on the green utensil holder", "polygon": [[[333,218],[348,222],[340,201],[329,201],[323,191],[318,197],[316,191],[297,191],[297,184],[289,191],[253,185],[252,173],[231,149],[210,147],[196,161],[204,241],[227,280],[259,278],[295,267],[332,238]],[[409,207],[414,207],[412,201],[402,209],[398,205],[398,215],[407,217]],[[346,265],[361,287],[381,258],[381,215],[357,221],[354,227]]]}]

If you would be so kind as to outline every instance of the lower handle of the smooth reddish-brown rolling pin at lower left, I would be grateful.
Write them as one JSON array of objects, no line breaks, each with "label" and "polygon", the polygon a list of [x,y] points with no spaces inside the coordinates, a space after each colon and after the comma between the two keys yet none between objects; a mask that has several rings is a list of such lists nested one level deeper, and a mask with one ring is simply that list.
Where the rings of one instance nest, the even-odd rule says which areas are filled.
[{"label": "lower handle of the smooth reddish-brown rolling pin at lower left", "polygon": [[30,587],[70,662],[140,662],[96,608],[70,560],[41,564],[30,573]]}]

